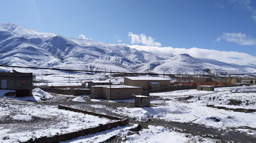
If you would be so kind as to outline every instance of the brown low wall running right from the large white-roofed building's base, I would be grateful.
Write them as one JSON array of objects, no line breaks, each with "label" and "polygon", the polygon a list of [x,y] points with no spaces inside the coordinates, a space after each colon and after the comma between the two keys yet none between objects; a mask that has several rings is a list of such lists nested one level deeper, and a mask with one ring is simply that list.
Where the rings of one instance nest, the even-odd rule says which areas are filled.
[{"label": "brown low wall running right from the large white-roofed building's base", "polygon": [[168,92],[168,91],[177,91],[177,90],[191,90],[197,89],[197,85],[171,85],[169,87],[152,87],[150,92]]}]

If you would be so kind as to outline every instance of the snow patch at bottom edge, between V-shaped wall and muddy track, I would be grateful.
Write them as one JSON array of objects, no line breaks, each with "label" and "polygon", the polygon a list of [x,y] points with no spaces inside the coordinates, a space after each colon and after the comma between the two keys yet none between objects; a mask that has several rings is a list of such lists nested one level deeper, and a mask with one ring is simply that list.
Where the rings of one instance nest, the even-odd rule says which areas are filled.
[{"label": "snow patch at bottom edge, between V-shaped wall and muddy track", "polygon": [[116,127],[110,130],[80,136],[71,140],[61,141],[61,143],[84,143],[84,142],[104,142],[113,136],[119,136],[121,142],[216,142],[217,139],[211,139],[202,136],[193,136],[190,134],[175,132],[172,129],[166,129],[162,126],[148,126],[139,132],[130,131],[138,125]]}]

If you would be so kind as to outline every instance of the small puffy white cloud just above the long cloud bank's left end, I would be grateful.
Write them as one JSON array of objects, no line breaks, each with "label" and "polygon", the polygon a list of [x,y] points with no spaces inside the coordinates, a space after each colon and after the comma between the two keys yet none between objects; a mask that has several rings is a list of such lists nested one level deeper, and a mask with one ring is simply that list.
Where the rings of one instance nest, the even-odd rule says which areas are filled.
[{"label": "small puffy white cloud just above the long cloud bank's left end", "polygon": [[128,36],[131,37],[132,44],[140,44],[147,46],[161,46],[162,44],[159,42],[155,42],[155,39],[152,37],[146,37],[145,34],[133,34],[132,32],[128,33]]}]

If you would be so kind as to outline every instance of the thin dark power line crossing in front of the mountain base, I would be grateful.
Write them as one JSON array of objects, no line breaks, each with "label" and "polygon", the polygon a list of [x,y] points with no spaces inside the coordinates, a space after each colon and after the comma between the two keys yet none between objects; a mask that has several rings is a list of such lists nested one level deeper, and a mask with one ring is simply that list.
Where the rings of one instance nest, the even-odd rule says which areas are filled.
[{"label": "thin dark power line crossing in front of the mountain base", "polygon": [[[0,67],[10,67],[10,68],[27,68],[27,69],[41,69],[41,70],[58,70],[58,71],[70,71],[70,72],[96,72],[96,73],[116,73],[116,74],[139,74],[139,75],[167,75],[167,76],[175,76],[175,75],[185,75],[185,76],[195,76],[202,74],[161,74],[161,73],[136,73],[136,72],[112,72],[112,71],[94,71],[94,70],[71,70],[71,69],[58,69],[58,68],[39,68],[39,67],[23,67],[23,66],[5,66],[0,65]],[[256,73],[226,73],[226,74],[217,74],[213,76],[227,76],[227,75],[250,75]]]}]

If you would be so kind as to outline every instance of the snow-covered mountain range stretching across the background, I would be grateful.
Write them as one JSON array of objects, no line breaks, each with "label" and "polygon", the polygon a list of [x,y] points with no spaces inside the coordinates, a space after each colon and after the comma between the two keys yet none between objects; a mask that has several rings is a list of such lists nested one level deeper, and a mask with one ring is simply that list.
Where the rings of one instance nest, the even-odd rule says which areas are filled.
[{"label": "snow-covered mountain range stretching across the background", "polygon": [[227,64],[188,54],[163,56],[126,45],[38,33],[27,27],[0,23],[0,65],[78,70],[202,73],[252,73],[256,65]]}]

